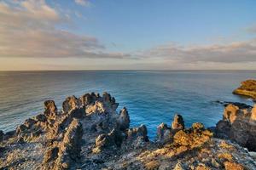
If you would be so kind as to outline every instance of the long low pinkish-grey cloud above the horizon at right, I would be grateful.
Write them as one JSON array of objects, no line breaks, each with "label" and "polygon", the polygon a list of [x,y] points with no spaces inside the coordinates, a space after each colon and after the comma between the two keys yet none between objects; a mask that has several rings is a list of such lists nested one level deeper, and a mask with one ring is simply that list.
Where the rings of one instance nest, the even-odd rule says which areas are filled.
[{"label": "long low pinkish-grey cloud above the horizon at right", "polygon": [[158,58],[180,63],[237,63],[256,61],[256,39],[229,44],[178,46],[166,44],[137,53],[141,58]]}]

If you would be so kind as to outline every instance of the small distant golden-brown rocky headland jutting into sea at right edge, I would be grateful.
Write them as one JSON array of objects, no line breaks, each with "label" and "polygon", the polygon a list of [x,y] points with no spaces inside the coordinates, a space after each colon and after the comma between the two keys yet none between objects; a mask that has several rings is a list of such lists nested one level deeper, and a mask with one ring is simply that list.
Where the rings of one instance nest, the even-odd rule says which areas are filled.
[{"label": "small distant golden-brown rocky headland jutting into sea at right edge", "polygon": [[250,97],[256,100],[256,80],[241,82],[241,86],[233,91],[233,94]]}]

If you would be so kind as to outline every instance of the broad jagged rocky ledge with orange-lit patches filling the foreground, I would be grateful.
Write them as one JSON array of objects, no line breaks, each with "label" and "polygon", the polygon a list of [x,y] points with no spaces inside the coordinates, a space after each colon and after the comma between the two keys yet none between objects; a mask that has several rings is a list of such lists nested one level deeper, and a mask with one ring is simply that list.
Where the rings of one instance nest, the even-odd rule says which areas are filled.
[{"label": "broad jagged rocky ledge with orange-lit patches filling the foreground", "polygon": [[[107,93],[68,97],[61,111],[54,101],[45,101],[43,114],[13,132],[0,131],[0,169],[256,169],[247,150],[213,137],[200,122],[185,128],[183,117],[176,115],[170,126],[161,123],[150,141],[147,127],[130,127],[127,109],[118,113],[117,107]],[[231,114],[230,107],[217,126],[229,138],[241,114],[239,108],[239,116]],[[248,137],[246,144],[250,142]]]}]

